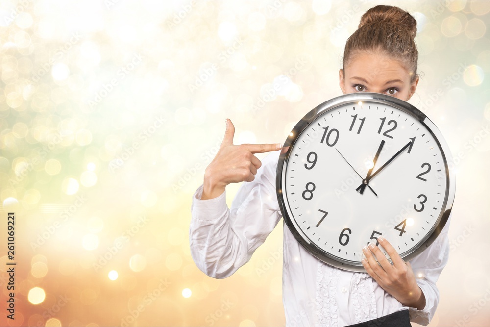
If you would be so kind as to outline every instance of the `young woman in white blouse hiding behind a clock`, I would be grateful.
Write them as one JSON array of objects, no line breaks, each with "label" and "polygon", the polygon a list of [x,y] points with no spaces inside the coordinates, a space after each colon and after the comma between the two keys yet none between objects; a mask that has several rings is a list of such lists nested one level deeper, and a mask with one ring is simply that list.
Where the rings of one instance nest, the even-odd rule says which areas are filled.
[{"label": "young woman in white blouse hiding behind a clock", "polygon": [[[339,71],[342,92],[376,92],[409,100],[418,83],[416,33],[417,22],[408,12],[392,6],[369,9],[345,46]],[[234,132],[227,119],[221,148],[193,197],[192,256],[199,269],[215,278],[228,277],[248,262],[281,218],[275,188],[281,145],[236,146]],[[275,152],[263,162],[254,156],[270,151]],[[242,181],[247,183],[229,209],[225,187]],[[436,241],[410,262],[379,237],[381,246],[394,253],[393,265],[387,260],[378,265],[373,254],[380,250],[371,244],[363,249],[368,274],[322,263],[283,227],[287,326],[404,327],[411,326],[410,321],[427,325],[439,302],[436,281],[447,263],[448,223]]]}]

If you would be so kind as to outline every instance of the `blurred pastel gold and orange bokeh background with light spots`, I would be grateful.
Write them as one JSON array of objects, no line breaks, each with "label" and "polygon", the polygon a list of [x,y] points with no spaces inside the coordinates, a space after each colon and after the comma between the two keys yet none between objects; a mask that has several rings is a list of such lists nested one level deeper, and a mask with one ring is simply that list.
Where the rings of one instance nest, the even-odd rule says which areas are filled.
[{"label": "blurred pastel gold and orange bokeh background with light spots", "polygon": [[[282,143],[341,95],[345,41],[382,3],[1,0],[0,325],[283,326],[282,222],[216,280],[190,256],[192,195],[225,118],[236,144]],[[417,18],[410,102],[440,128],[457,176],[430,326],[489,326],[490,2],[389,4]]]}]

